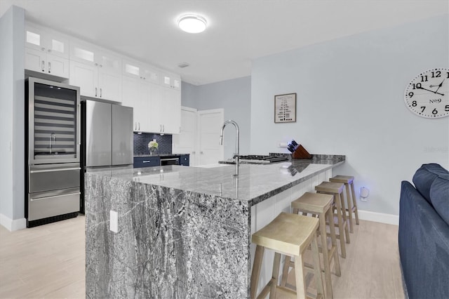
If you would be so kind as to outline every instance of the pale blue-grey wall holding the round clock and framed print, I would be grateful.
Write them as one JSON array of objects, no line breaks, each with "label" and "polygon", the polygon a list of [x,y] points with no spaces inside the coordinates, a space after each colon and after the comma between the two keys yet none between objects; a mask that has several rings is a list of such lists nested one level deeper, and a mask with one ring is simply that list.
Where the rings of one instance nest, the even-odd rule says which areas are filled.
[{"label": "pale blue-grey wall holding the round clock and framed print", "polygon": [[[424,119],[403,101],[408,82],[449,67],[448,15],[335,39],[253,61],[250,151],[294,138],[313,154],[345,154],[334,174],[370,189],[361,210],[398,215],[401,180],[424,163],[449,168],[449,117]],[[274,124],[274,95],[297,93],[297,121]]]}]

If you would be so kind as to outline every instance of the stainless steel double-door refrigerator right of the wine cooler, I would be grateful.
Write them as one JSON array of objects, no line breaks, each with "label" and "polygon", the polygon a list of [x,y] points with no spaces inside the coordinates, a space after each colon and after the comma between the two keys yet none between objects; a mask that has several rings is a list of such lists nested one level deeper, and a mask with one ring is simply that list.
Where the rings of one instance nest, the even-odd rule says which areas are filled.
[{"label": "stainless steel double-door refrigerator right of the wine cooler", "polygon": [[98,168],[133,168],[133,108],[93,100],[81,101],[81,205],[84,173]]}]

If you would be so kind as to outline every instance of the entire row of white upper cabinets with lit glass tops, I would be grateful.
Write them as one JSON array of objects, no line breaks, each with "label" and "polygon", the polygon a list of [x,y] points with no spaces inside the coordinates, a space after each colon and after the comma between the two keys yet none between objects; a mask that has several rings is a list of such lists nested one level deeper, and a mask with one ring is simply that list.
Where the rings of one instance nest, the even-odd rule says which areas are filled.
[{"label": "entire row of white upper cabinets with lit glass tops", "polygon": [[177,74],[28,22],[25,69],[36,77],[68,79],[82,96],[133,107],[134,131],[180,133]]}]

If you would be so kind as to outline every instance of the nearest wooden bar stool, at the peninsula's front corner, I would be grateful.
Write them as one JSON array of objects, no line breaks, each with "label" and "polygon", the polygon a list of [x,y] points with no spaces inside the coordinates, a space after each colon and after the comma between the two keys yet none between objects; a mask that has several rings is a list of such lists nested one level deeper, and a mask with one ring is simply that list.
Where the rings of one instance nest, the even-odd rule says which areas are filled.
[{"label": "nearest wooden bar stool, at the peninsula's front corner", "polygon": [[[316,218],[282,212],[272,222],[253,234],[251,240],[257,246],[251,273],[250,298],[256,298],[265,248],[275,252],[272,279],[264,286],[257,298],[265,298],[268,293],[270,293],[270,298],[276,298],[276,295],[278,298],[293,296],[307,298],[303,253],[309,245],[311,245],[314,258],[317,298],[323,298],[323,281],[321,280],[319,249],[316,241],[318,227],[319,220]],[[281,254],[293,256],[295,260],[296,292],[277,285]]]}]

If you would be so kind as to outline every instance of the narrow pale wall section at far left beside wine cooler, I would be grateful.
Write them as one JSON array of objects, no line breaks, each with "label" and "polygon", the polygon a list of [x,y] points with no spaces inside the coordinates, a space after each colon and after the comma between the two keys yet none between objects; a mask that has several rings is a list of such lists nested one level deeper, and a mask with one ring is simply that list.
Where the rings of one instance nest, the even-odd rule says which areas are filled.
[{"label": "narrow pale wall section at far left beside wine cooler", "polygon": [[0,18],[0,224],[25,227],[25,11]]}]

